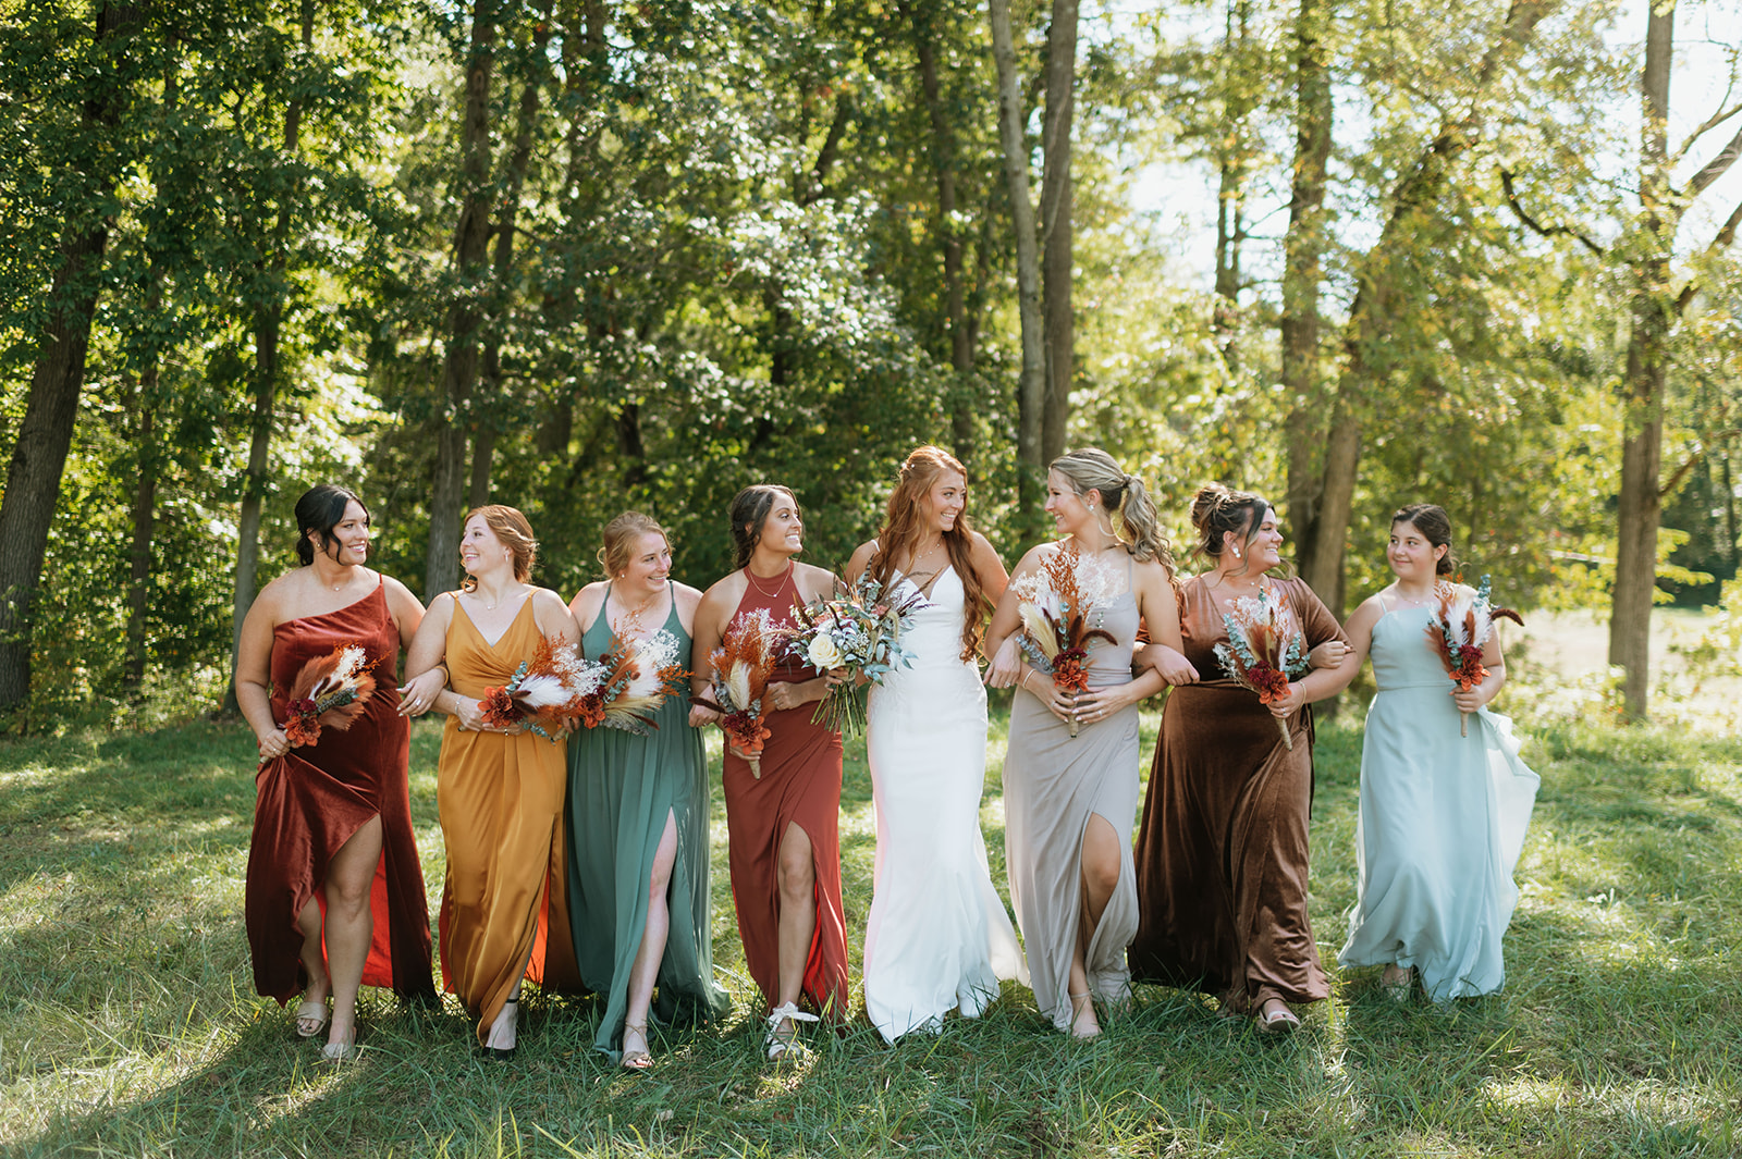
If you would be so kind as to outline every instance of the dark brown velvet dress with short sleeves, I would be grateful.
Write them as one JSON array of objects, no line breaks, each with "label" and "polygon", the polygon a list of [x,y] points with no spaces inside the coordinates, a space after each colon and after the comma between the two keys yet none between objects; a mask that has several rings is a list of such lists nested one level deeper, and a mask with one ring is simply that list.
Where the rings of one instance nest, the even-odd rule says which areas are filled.
[{"label": "dark brown velvet dress with short sleeves", "polygon": [[[1301,580],[1272,580],[1313,647],[1345,639]],[[1167,696],[1138,830],[1138,981],[1216,994],[1235,1011],[1329,994],[1306,921],[1312,708],[1289,717],[1293,752],[1256,693],[1221,675],[1228,639],[1202,576],[1183,590],[1198,684]]]}]

